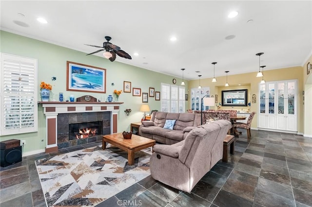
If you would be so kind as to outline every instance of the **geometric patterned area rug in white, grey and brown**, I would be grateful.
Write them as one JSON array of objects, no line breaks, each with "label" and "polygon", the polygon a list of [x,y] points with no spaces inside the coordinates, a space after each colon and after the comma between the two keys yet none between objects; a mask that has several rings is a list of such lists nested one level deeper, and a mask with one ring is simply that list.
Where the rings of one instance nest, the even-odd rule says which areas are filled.
[{"label": "geometric patterned area rug in white, grey and brown", "polygon": [[[108,146],[109,147],[109,146]],[[93,207],[150,175],[151,149],[127,153],[101,146],[36,160],[48,207]]]}]

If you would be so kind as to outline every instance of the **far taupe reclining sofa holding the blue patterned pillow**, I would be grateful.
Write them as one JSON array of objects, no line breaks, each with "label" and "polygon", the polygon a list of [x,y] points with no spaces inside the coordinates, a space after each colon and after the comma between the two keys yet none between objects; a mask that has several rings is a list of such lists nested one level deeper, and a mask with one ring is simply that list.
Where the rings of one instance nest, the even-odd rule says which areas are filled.
[{"label": "far taupe reclining sofa holding the blue patterned pillow", "polygon": [[[176,120],[174,128],[164,129],[166,120]],[[200,125],[200,115],[192,113],[153,112],[150,121],[142,121],[139,135],[163,144],[175,144],[186,138],[187,134]]]}]

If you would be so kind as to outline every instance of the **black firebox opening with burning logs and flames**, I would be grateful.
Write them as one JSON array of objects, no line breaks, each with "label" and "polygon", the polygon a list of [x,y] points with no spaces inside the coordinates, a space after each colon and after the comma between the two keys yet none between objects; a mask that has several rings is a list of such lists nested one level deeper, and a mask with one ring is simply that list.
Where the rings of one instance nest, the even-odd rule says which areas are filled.
[{"label": "black firebox opening with burning logs and flames", "polygon": [[90,138],[102,134],[103,121],[89,121],[69,124],[69,140]]}]

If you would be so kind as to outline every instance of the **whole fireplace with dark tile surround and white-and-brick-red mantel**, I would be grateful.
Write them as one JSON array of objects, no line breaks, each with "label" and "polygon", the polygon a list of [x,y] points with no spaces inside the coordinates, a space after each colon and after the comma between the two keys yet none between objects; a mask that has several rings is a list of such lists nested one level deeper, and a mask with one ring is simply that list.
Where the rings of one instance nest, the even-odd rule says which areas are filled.
[{"label": "whole fireplace with dark tile surround and white-and-brick-red mantel", "polygon": [[[46,118],[45,152],[50,153],[64,147],[99,141],[102,140],[102,135],[117,133],[117,115],[120,104],[123,103],[39,102],[39,104],[42,104]],[[96,132],[93,129],[90,133],[90,128],[97,128]]]}]

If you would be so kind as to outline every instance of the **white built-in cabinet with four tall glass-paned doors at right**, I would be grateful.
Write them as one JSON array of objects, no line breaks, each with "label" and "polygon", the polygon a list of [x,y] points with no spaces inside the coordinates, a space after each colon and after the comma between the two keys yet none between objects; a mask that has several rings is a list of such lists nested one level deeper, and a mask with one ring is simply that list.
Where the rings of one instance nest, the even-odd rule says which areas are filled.
[{"label": "white built-in cabinet with four tall glass-paned doors at right", "polygon": [[259,85],[258,128],[297,131],[297,80]]}]

